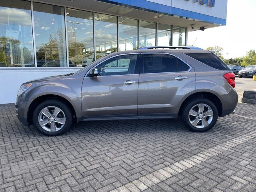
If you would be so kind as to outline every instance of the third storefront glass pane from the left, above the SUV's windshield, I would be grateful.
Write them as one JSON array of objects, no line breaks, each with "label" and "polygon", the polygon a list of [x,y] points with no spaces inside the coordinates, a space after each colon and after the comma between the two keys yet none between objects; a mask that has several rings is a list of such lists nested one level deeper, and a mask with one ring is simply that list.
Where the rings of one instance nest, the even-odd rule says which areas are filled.
[{"label": "third storefront glass pane from the left, above the SUV's windshield", "polygon": [[84,67],[94,60],[92,12],[66,9],[70,67]]}]

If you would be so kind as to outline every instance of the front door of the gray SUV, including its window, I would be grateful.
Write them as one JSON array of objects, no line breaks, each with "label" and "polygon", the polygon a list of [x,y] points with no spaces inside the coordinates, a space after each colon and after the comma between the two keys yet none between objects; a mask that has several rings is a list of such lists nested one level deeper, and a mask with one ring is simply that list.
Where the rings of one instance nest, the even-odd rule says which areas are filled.
[{"label": "front door of the gray SUV, including its window", "polygon": [[84,120],[138,119],[139,60],[140,54],[115,56],[94,67],[98,76],[84,77]]}]

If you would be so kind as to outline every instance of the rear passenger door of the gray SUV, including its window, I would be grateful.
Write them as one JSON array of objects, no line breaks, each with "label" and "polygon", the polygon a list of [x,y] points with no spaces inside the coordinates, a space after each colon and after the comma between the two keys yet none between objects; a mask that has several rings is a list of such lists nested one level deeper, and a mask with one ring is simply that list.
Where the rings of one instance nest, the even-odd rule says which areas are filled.
[{"label": "rear passenger door of the gray SUV, including its window", "polygon": [[194,69],[172,54],[142,57],[138,118],[176,118],[183,98],[195,92]]}]

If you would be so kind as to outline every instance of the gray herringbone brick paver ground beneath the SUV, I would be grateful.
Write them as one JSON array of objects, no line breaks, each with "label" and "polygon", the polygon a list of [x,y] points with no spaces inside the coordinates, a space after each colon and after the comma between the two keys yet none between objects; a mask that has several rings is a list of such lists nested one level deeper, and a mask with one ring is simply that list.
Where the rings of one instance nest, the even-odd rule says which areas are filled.
[{"label": "gray herringbone brick paver ground beneath the SUV", "polygon": [[48,137],[1,105],[0,191],[255,191],[255,111],[239,103],[206,133],[180,120],[129,120]]}]

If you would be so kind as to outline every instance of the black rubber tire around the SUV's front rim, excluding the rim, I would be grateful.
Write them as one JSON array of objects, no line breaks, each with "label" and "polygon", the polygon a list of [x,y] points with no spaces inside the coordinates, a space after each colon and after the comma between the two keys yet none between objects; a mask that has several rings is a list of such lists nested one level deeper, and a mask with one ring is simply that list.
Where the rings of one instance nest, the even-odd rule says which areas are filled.
[{"label": "black rubber tire around the SUV's front rim, excluding the rim", "polygon": [[[55,107],[60,108],[62,110],[62,112],[64,113],[64,115],[65,115],[66,122],[65,122],[64,126],[60,130],[58,130],[58,131],[55,131],[55,132],[46,131],[46,130],[44,130],[40,126],[40,124],[38,122],[39,113],[41,112],[42,109],[44,109],[44,108],[46,108],[48,106],[55,106]],[[61,135],[64,132],[66,132],[66,130],[68,130],[70,128],[70,126],[72,125],[72,112],[71,112],[71,109],[70,109],[70,107],[67,104],[65,104],[62,101],[54,100],[54,99],[46,100],[46,101],[42,102],[41,104],[39,104],[36,107],[36,109],[34,110],[34,113],[33,113],[33,124],[36,127],[36,129],[40,133],[42,133],[44,135],[47,135],[47,136],[58,136],[58,135]]]}]

